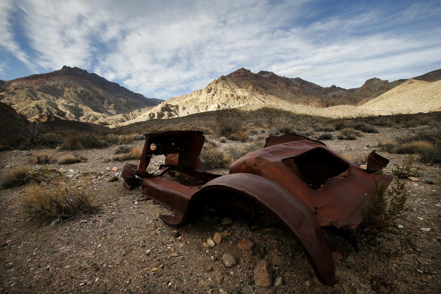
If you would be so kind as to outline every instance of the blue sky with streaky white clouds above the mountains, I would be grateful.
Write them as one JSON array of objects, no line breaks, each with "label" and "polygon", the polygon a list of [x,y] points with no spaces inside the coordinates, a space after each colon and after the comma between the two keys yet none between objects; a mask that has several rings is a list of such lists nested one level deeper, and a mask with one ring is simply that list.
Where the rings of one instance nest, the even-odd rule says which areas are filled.
[{"label": "blue sky with streaky white clouds above the mountains", "polygon": [[359,87],[441,68],[441,1],[1,0],[0,79],[63,65],[164,100],[241,67]]}]

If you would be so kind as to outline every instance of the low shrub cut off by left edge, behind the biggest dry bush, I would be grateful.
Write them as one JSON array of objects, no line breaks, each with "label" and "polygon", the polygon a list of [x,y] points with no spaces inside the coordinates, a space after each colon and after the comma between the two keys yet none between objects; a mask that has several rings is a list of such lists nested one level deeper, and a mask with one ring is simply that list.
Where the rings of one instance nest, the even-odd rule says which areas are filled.
[{"label": "low shrub cut off by left edge, behind the biggest dry bush", "polygon": [[41,182],[52,177],[52,171],[47,167],[32,169],[30,167],[13,168],[1,179],[3,188],[19,187],[30,182]]}]

